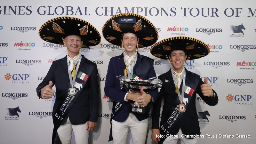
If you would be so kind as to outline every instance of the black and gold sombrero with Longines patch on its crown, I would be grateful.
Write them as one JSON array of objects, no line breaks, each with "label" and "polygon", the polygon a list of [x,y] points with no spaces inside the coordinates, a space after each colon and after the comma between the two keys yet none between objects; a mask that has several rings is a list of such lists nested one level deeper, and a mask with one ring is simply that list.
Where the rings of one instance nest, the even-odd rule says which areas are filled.
[{"label": "black and gold sombrero with Longines patch on its crown", "polygon": [[107,20],[102,28],[104,38],[111,44],[122,46],[121,36],[133,33],[138,36],[138,47],[147,47],[156,43],[158,32],[146,18],[134,13],[117,14]]}]

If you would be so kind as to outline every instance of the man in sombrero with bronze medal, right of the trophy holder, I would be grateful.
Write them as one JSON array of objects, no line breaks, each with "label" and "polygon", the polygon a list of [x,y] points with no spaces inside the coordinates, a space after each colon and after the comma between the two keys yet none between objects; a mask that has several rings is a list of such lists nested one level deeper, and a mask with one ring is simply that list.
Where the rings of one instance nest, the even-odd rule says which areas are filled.
[{"label": "man in sombrero with bronze medal, right of the trophy holder", "polygon": [[[176,144],[180,139],[181,144],[195,144],[200,137],[196,93],[210,106],[218,103],[218,96],[208,84],[207,78],[203,82],[199,75],[188,71],[183,65],[185,60],[208,55],[210,49],[196,38],[177,36],[154,44],[150,53],[168,60],[172,66],[158,77],[163,85],[153,106],[152,138],[156,143]],[[162,99],[164,106],[159,125]]]}]

